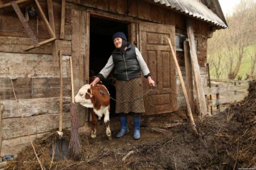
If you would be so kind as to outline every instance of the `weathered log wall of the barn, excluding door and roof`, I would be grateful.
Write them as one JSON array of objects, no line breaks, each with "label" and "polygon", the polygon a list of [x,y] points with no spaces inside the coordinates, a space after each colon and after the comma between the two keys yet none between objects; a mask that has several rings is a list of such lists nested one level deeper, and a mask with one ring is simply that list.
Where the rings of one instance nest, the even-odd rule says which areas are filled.
[{"label": "weathered log wall of the barn, excluding door and roof", "polygon": [[[41,7],[48,18],[47,1],[40,0]],[[24,9],[22,9],[24,14]],[[182,14],[162,8],[160,5],[143,0],[67,0],[65,14],[65,36],[60,40],[61,3],[53,1],[55,33],[57,48],[62,50],[63,86],[64,86],[64,117],[63,126],[70,127],[70,64],[69,57],[73,56],[76,91],[84,81],[86,72],[82,65],[85,63],[83,55],[88,54],[82,29],[87,23],[80,24],[80,20],[90,14],[104,15],[116,20],[125,20],[133,31],[136,31],[136,22],[148,21],[175,26],[176,33],[186,35],[186,17]],[[38,34],[35,18],[30,18],[32,28],[38,41],[48,39],[47,28],[39,17]],[[32,138],[40,137],[53,128],[58,127],[58,96],[59,96],[59,68],[52,62],[51,44],[35,48],[31,51],[23,50],[32,45],[25,29],[15,12],[0,14],[0,100],[3,103],[3,145],[1,156],[14,154],[20,148],[29,144],[29,140],[21,122],[21,115],[17,111],[15,97],[9,78],[13,79],[15,93],[19,100],[21,113],[25,117],[29,133]],[[78,24],[81,29],[73,27]],[[207,85],[205,63],[207,62],[207,33],[209,26],[206,23],[194,20],[195,37],[198,39],[198,61],[204,86]],[[136,43],[136,34],[131,35]],[[86,38],[86,37],[85,37]],[[134,43],[133,42],[133,43]],[[77,44],[76,44],[77,43]],[[81,45],[81,46],[77,46]],[[177,59],[181,66],[183,78],[186,82],[184,68],[184,54],[177,51]],[[82,63],[81,63],[82,62]],[[88,63],[87,63],[88,64]],[[80,69],[80,70],[79,70]],[[33,92],[33,95],[32,95]],[[76,93],[76,92],[75,92]],[[177,76],[177,108],[183,108],[185,102],[181,91],[180,80]],[[88,114],[79,110],[79,125],[88,125]]]}]

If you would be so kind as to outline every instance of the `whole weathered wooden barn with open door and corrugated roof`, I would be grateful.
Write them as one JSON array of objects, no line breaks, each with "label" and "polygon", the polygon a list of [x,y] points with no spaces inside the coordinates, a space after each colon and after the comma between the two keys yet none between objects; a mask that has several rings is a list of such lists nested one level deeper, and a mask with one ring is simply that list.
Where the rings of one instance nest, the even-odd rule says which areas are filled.
[{"label": "whole weathered wooden barn with open door and corrugated roof", "polygon": [[[1,0],[2,7],[10,1]],[[16,4],[24,15],[26,6],[33,6],[29,3],[34,1],[23,1],[26,0],[17,0]],[[3,104],[1,155],[17,153],[29,145],[21,114],[32,138],[58,128],[60,78],[59,66],[53,57],[54,53],[56,55],[55,47],[62,51],[63,125],[70,127],[70,56],[73,58],[76,93],[89,82],[90,76],[97,74],[106,64],[113,50],[112,34],[123,31],[128,40],[140,49],[152,78],[157,82],[154,94],[150,93],[144,98],[146,112],[143,116],[172,114],[186,104],[166,38],[171,39],[176,49],[186,82],[183,41],[187,37],[187,20],[191,21],[198,67],[202,84],[206,87],[207,40],[216,29],[227,28],[218,0],[67,0],[64,24],[61,24],[60,0],[52,1],[52,18],[52,11],[49,10],[51,0],[38,1],[45,17],[50,18],[50,23],[53,22],[51,28],[56,39],[52,41],[53,35],[41,15],[29,17],[28,26],[36,40],[51,40],[51,43],[29,51],[24,50],[35,45],[36,41],[30,40],[13,9],[0,8],[0,101]],[[144,84],[147,91],[145,79]],[[115,88],[111,83],[108,88],[114,94]],[[88,127],[87,112],[87,109],[78,107],[80,127]],[[114,109],[111,112],[113,114]]]}]

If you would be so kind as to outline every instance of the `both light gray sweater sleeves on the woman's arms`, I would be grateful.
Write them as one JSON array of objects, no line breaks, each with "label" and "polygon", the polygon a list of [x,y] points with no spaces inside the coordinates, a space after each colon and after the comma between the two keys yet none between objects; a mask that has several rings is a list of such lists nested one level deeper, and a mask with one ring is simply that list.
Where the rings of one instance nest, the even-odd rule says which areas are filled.
[{"label": "both light gray sweater sleeves on the woman's arms", "polygon": [[[147,66],[146,62],[144,61],[138,48],[135,48],[135,53],[137,56],[138,63],[140,65],[140,69],[143,72],[143,75],[144,76],[149,75],[150,72],[149,72],[148,66]],[[99,72],[99,74],[102,74],[104,78],[107,78],[108,75],[110,74],[110,72],[112,71],[113,67],[114,67],[114,62],[113,62],[113,58],[111,55],[108,59],[107,64],[105,65],[104,68],[102,68],[102,70]]]}]

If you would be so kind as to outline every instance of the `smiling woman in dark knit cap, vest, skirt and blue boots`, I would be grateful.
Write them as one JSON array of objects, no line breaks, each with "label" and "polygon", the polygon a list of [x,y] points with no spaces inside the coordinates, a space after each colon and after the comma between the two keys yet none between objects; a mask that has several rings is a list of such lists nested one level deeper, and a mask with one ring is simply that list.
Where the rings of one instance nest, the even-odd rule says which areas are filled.
[{"label": "smiling woman in dark knit cap, vest, skirt and blue boots", "polygon": [[[113,34],[115,49],[109,57],[105,67],[99,72],[96,79],[90,84],[95,86],[101,79],[107,78],[114,68],[114,77],[116,78],[116,99],[127,101],[136,99],[143,95],[141,73],[148,79],[148,84],[155,86],[151,79],[148,66],[146,65],[140,51],[127,42],[123,32]],[[140,118],[141,113],[145,112],[143,98],[132,102],[116,102],[116,113],[119,113],[121,130],[116,137],[120,138],[128,133],[127,115],[133,116],[134,120],[134,139],[140,139]]]}]

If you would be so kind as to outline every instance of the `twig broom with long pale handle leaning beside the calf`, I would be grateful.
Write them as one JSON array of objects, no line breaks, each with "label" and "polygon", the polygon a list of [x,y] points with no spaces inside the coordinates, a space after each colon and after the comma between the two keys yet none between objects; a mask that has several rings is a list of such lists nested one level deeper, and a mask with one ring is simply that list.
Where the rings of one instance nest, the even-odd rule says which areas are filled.
[{"label": "twig broom with long pale handle leaning beside the calf", "polygon": [[71,91],[72,91],[72,101],[70,103],[70,116],[71,116],[71,137],[69,144],[70,156],[72,159],[78,161],[81,155],[81,144],[78,134],[78,120],[76,114],[76,104],[74,99],[74,82],[73,82],[73,68],[72,68],[72,58],[70,56],[70,70],[71,70]]}]

